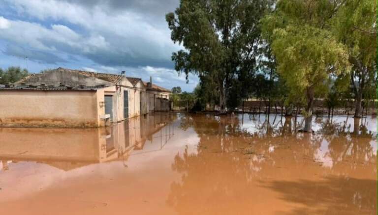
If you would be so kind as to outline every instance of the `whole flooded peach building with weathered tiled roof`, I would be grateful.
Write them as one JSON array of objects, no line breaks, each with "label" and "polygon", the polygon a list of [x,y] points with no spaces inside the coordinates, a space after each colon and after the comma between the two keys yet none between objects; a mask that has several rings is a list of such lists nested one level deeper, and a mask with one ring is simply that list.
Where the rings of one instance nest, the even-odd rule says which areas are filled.
[{"label": "whole flooded peach building with weathered tiled roof", "polygon": [[151,79],[58,68],[0,85],[0,126],[102,127],[169,111],[170,96]]}]

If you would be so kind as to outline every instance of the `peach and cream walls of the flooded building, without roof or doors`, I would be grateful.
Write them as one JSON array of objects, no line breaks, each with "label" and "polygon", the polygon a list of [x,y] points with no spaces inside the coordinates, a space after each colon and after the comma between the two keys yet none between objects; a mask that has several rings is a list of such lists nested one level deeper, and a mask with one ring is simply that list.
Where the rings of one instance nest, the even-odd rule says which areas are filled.
[{"label": "peach and cream walls of the flooded building, without roof or doors", "polygon": [[[124,93],[128,92],[128,117],[169,110],[170,93],[146,91],[139,81],[125,77],[117,85],[96,91],[1,90],[0,126],[103,127],[125,120]],[[105,119],[105,95],[113,96],[113,118]]]}]

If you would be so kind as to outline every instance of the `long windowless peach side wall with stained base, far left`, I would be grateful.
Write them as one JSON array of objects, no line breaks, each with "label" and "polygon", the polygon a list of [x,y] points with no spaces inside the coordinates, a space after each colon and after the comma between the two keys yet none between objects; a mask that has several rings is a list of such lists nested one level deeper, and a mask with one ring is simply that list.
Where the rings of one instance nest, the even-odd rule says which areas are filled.
[{"label": "long windowless peach side wall with stained base, far left", "polygon": [[1,90],[0,126],[97,127],[95,91]]}]

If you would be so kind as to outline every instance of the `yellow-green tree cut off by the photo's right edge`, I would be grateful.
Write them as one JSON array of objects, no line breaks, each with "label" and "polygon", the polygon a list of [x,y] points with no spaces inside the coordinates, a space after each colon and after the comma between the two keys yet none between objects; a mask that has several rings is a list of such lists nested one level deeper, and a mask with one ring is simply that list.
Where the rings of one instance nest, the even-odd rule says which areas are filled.
[{"label": "yellow-green tree cut off by the photo's right edge", "polygon": [[363,95],[377,81],[376,16],[376,0],[345,0],[332,21],[334,34],[348,48],[355,117],[361,117]]}]

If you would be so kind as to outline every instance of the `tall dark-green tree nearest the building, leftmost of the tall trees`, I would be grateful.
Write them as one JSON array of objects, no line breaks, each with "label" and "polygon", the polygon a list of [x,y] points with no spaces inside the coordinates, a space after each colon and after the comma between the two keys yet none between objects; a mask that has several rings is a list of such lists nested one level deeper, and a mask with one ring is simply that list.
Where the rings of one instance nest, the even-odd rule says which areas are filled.
[{"label": "tall dark-green tree nearest the building, leftmost of the tall trees", "polygon": [[261,42],[259,20],[273,0],[181,0],[166,21],[171,39],[185,50],[173,53],[175,69],[211,77],[224,112],[232,80],[255,69]]}]

